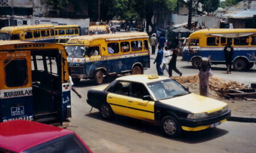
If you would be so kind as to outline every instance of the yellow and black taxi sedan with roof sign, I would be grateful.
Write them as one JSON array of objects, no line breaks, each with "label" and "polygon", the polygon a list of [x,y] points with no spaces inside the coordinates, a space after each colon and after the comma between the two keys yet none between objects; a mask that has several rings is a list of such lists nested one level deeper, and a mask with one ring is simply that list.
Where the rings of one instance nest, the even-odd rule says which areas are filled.
[{"label": "yellow and black taxi sedan with roof sign", "polygon": [[155,122],[167,137],[178,137],[182,130],[213,128],[231,114],[226,103],[193,94],[156,74],[122,76],[108,86],[92,88],[87,103],[107,120],[121,114]]}]

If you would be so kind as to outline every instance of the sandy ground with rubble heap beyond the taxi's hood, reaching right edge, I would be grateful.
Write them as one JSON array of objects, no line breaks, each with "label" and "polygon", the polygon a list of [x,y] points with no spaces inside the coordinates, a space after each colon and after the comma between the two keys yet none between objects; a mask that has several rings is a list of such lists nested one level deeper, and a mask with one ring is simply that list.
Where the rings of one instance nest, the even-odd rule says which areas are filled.
[{"label": "sandy ground with rubble heap beyond the taxi's hood, reaching right edge", "polygon": [[[177,82],[183,84],[183,86],[189,87],[189,91],[199,94],[199,78],[197,75],[191,76],[173,76]],[[225,80],[211,76],[209,78],[209,90],[208,95],[213,99],[224,101],[228,103],[229,109],[232,111],[233,116],[256,116],[256,99],[244,100],[244,99],[224,99],[216,94],[213,90],[219,89],[243,89],[249,88],[242,83]]]}]

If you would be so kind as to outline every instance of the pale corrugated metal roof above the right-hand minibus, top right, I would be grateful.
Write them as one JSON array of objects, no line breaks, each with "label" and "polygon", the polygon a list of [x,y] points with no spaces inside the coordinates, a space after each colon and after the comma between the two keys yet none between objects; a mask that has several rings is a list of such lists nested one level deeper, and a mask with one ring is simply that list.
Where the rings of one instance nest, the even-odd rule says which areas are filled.
[{"label": "pale corrugated metal roof above the right-hand minibus, top right", "polygon": [[236,10],[226,11],[222,18],[250,19],[253,15],[256,15],[256,10]]}]

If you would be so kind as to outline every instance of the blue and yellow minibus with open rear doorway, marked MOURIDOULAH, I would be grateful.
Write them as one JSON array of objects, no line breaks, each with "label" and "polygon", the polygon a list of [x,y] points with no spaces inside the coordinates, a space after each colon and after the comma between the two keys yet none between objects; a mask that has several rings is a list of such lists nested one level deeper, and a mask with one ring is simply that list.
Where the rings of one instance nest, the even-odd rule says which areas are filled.
[{"label": "blue and yellow minibus with open rear doorway, marked MOURIDOULAH", "polygon": [[0,122],[67,123],[71,86],[61,44],[0,41]]}]

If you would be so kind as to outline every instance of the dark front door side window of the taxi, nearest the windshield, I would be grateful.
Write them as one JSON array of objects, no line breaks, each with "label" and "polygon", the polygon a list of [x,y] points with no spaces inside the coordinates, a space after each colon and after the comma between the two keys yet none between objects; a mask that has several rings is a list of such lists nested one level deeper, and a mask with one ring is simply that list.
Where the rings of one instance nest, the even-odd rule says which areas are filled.
[{"label": "dark front door side window of the taxi, nearest the windshield", "polygon": [[130,96],[142,98],[143,96],[147,95],[149,95],[147,88],[143,84],[135,82],[131,83]]}]

